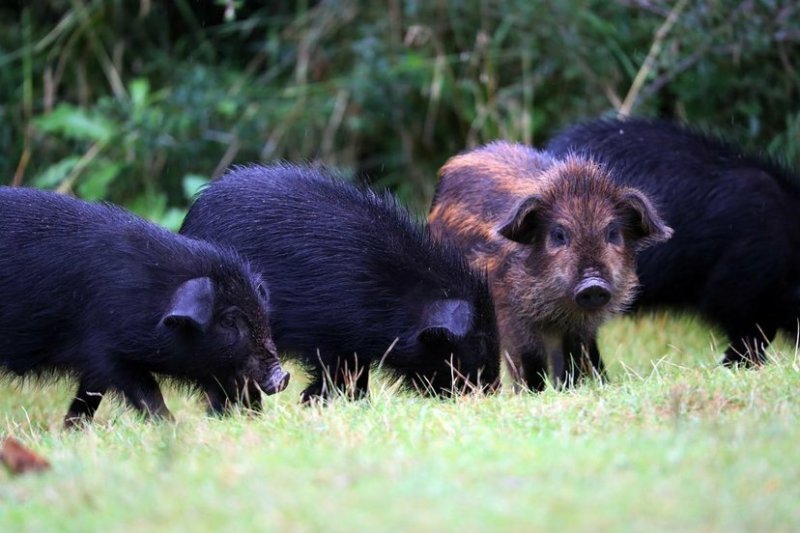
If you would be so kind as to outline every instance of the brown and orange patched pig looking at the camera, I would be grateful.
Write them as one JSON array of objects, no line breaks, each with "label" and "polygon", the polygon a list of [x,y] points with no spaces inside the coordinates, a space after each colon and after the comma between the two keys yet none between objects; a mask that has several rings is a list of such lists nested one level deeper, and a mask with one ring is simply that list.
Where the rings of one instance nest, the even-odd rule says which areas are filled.
[{"label": "brown and orange patched pig looking at the camera", "polygon": [[633,299],[636,252],[670,236],[647,197],[590,159],[502,141],[442,167],[428,221],[489,272],[511,373],[534,390],[548,374],[602,374],[586,341]]}]

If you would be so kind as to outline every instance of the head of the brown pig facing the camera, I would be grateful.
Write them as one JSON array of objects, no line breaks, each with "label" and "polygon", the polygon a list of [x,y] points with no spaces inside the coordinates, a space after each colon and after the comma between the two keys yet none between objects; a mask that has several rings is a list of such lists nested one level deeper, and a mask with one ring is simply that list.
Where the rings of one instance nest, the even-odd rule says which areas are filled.
[{"label": "head of the brown pig facing the camera", "polygon": [[624,309],[638,282],[636,251],[671,233],[644,195],[595,172],[578,167],[552,180],[499,230],[525,245],[518,258],[531,299],[554,323],[599,322]]}]

